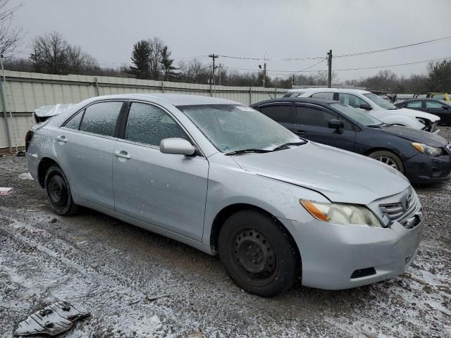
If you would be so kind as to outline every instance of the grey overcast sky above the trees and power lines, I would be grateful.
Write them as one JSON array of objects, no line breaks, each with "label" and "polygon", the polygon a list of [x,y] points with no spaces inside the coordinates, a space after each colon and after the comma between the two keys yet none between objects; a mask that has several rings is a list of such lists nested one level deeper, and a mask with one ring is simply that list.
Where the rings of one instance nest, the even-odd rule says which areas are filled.
[{"label": "grey overcast sky above the trees and power lines", "polygon": [[[135,42],[159,37],[179,58],[215,53],[263,58],[268,70],[302,70],[318,62],[280,58],[371,51],[451,35],[450,0],[11,0],[23,4],[13,23],[31,40],[56,30],[101,65],[130,63]],[[25,55],[25,54],[23,54]],[[451,39],[397,51],[334,58],[333,69],[393,65],[451,57]],[[207,63],[209,58],[199,58]],[[258,69],[262,61],[219,58],[223,65]],[[390,67],[398,75],[425,73],[427,63]],[[326,62],[311,70],[326,69]],[[376,70],[340,71],[339,80]],[[270,73],[270,75],[274,75]]]}]

